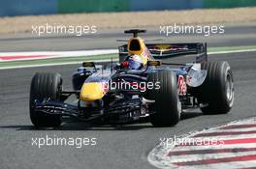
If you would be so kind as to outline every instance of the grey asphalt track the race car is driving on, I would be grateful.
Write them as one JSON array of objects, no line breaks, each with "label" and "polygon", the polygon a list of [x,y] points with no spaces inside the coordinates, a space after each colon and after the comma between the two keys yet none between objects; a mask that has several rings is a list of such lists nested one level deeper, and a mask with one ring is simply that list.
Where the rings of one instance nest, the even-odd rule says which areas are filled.
[{"label": "grey asphalt track the race car is driving on", "polygon": [[[240,35],[240,41],[237,43],[247,45],[244,43],[247,42],[246,33],[244,37]],[[256,41],[255,35],[248,43],[255,44],[253,41]],[[222,43],[232,45],[233,41]],[[199,110],[194,110],[182,114],[182,120],[176,127],[160,128],[152,127],[149,123],[91,127],[71,119],[65,120],[59,128],[36,129],[31,125],[28,115],[32,75],[36,71],[60,72],[64,87],[71,89],[71,75],[79,65],[0,70],[0,168],[154,168],[147,162],[146,157],[159,143],[160,137],[173,137],[191,130],[222,125],[256,115],[255,56],[256,52],[243,52],[208,57],[209,61],[228,61],[232,67],[236,96],[234,107],[229,114],[203,115]],[[174,62],[192,60],[190,57],[172,59]],[[45,146],[39,149],[31,145],[32,138],[46,135],[65,138],[96,137],[97,145],[82,146],[80,149],[72,146]]]}]

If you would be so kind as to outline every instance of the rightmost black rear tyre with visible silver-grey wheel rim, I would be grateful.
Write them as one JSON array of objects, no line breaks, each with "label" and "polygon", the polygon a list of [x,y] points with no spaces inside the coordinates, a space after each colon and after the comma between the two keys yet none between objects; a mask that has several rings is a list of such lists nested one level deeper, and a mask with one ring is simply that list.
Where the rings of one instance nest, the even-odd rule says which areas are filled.
[{"label": "rightmost black rear tyre with visible silver-grey wheel rim", "polygon": [[199,100],[206,104],[201,110],[204,114],[228,113],[234,102],[234,83],[232,70],[227,62],[204,63],[202,69],[208,70],[204,83],[200,86]]}]

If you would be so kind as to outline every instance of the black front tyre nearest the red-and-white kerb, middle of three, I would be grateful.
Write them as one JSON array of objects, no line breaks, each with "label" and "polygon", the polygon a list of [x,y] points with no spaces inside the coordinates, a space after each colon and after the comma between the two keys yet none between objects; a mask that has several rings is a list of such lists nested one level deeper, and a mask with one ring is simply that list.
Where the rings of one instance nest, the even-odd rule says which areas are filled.
[{"label": "black front tyre nearest the red-and-white kerb, middle of three", "polygon": [[176,73],[161,70],[148,74],[148,82],[159,83],[159,89],[148,89],[147,99],[155,100],[149,107],[150,122],[154,127],[175,126],[180,119],[181,104],[177,94]]}]

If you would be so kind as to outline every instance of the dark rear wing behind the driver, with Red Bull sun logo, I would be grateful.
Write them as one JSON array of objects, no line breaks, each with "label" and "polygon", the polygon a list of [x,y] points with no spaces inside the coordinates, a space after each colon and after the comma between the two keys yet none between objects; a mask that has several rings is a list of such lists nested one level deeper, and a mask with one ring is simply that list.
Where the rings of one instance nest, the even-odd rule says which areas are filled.
[{"label": "dark rear wing behind the driver, with Red Bull sun logo", "polygon": [[[181,55],[196,55],[196,62],[208,62],[207,43],[148,43],[145,44],[150,54],[155,59],[172,58]],[[128,55],[127,44],[118,47],[119,61]]]}]

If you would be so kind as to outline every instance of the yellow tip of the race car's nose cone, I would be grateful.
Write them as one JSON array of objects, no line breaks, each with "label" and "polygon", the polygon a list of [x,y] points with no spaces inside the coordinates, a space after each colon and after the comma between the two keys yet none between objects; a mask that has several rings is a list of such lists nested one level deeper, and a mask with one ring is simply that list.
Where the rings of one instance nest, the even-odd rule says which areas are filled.
[{"label": "yellow tip of the race car's nose cone", "polygon": [[83,83],[80,90],[80,99],[84,101],[94,101],[104,97],[104,87],[102,83]]}]

